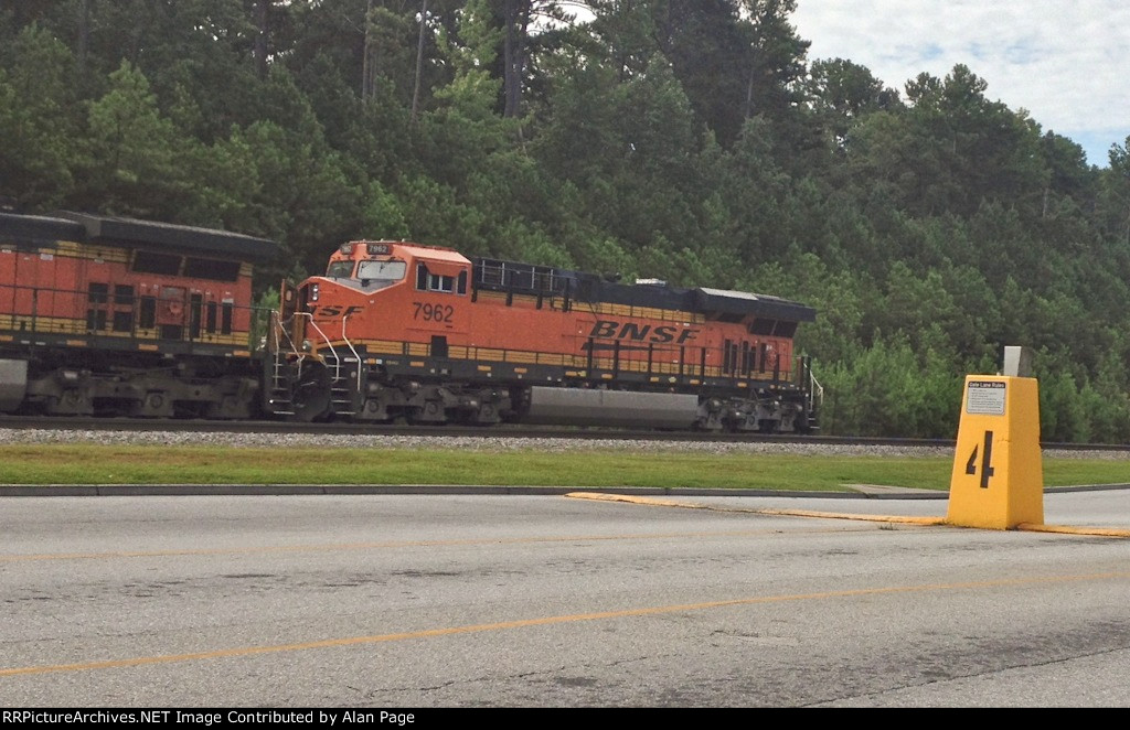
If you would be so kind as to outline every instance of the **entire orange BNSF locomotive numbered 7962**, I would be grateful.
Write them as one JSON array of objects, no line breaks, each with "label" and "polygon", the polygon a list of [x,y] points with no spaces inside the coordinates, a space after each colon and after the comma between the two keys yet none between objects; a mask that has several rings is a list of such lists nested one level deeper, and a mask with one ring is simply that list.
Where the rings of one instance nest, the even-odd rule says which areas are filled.
[{"label": "entire orange BNSF locomotive numbered 7962", "polygon": [[264,409],[810,433],[819,385],[793,336],[815,318],[772,296],[355,241],[325,276],[284,284]]}]

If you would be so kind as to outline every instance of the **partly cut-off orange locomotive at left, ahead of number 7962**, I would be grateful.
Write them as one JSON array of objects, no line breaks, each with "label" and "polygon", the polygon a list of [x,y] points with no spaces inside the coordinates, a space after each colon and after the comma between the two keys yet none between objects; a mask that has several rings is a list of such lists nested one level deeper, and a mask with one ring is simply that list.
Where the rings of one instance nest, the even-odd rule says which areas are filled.
[{"label": "partly cut-off orange locomotive at left, ahead of number 7962", "polygon": [[259,414],[252,267],[278,253],[224,231],[0,212],[0,411]]}]

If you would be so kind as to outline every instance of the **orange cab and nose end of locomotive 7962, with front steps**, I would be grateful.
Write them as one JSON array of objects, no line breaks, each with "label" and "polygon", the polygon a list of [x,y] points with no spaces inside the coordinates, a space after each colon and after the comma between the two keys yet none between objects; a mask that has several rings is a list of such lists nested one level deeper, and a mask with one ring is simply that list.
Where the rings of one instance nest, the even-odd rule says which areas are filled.
[{"label": "orange cab and nose end of locomotive 7962, with front steps", "polygon": [[[389,382],[388,365],[418,367],[418,359],[401,358],[419,357],[410,344],[421,339],[433,357],[444,358],[453,345],[449,338],[466,334],[470,268],[468,259],[441,246],[340,245],[325,276],[306,279],[289,295],[284,285],[268,408],[302,420],[385,419],[390,398],[376,399],[375,410],[370,403]],[[441,363],[436,373],[421,375],[442,377],[442,370]]]}]

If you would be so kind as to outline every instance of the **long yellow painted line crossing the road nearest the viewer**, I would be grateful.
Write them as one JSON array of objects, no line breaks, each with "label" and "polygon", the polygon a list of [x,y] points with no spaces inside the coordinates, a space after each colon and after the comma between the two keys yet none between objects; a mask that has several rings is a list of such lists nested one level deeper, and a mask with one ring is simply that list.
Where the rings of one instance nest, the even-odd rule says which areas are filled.
[{"label": "long yellow painted line crossing the road nearest the viewer", "polygon": [[277,644],[268,646],[238,646],[234,649],[216,649],[211,651],[200,651],[184,654],[163,654],[156,657],[133,657],[129,659],[114,659],[110,661],[78,662],[72,664],[46,664],[42,667],[14,667],[11,669],[0,669],[0,677],[15,677],[18,675],[44,675],[63,671],[88,671],[92,669],[118,669],[122,667],[142,667],[147,664],[166,664],[177,661],[193,661],[201,659],[231,659],[234,657],[253,657],[257,654],[270,654],[287,651],[306,651],[312,649],[337,649],[341,646],[357,646],[365,644],[379,644],[397,641],[410,641],[416,638],[434,638],[438,636],[455,636],[460,634],[478,634],[485,632],[507,631],[514,628],[528,628],[531,626],[554,626],[558,624],[572,624],[577,622],[594,622],[616,618],[638,618],[642,616],[659,616],[663,614],[679,614],[686,611],[702,611],[714,608],[731,608],[736,606],[757,606],[767,603],[783,603],[791,601],[828,600],[834,598],[855,598],[861,596],[883,596],[893,593],[914,593],[927,591],[950,591],[966,590],[971,588],[998,588],[1002,585],[1033,585],[1046,583],[1067,583],[1081,581],[1098,581],[1110,579],[1130,577],[1130,573],[1092,573],[1086,575],[1046,575],[1040,577],[1001,579],[993,581],[967,581],[962,583],[923,583],[919,585],[886,585],[879,588],[847,589],[842,591],[822,591],[816,593],[785,593],[781,596],[754,596],[749,598],[736,598],[721,601],[703,601],[699,603],[677,603],[671,606],[651,606],[644,608],[628,608],[611,611],[593,611],[589,614],[568,614],[564,616],[544,616],[540,618],[524,618],[510,622],[495,622],[490,624],[470,624],[467,626],[450,626],[445,628],[428,628],[415,632],[400,632],[395,634],[375,634],[371,636],[346,636],[342,638],[327,638],[322,641],[302,642],[294,644]]}]

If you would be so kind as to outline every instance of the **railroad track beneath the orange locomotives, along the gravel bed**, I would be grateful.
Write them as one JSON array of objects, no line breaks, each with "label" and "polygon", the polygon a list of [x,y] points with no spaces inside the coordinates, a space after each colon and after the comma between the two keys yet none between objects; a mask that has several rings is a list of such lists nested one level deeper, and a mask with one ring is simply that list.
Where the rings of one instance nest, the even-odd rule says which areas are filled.
[{"label": "railroad track beneath the orange locomotives, along the gravel bed", "polygon": [[[596,427],[550,426],[411,426],[350,423],[304,424],[277,420],[201,420],[148,418],[60,418],[44,416],[0,416],[0,429],[110,431],[231,434],[321,434],[367,436],[460,436],[479,438],[566,438],[575,441],[657,441],[713,443],[826,444],[847,446],[928,446],[953,447],[953,438],[880,438],[873,436],[801,436],[792,434],[730,434],[668,432]],[[1063,451],[1130,452],[1130,444],[1041,444],[1042,449]]]}]

